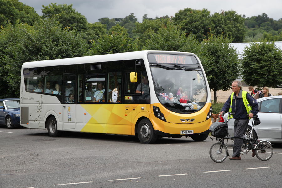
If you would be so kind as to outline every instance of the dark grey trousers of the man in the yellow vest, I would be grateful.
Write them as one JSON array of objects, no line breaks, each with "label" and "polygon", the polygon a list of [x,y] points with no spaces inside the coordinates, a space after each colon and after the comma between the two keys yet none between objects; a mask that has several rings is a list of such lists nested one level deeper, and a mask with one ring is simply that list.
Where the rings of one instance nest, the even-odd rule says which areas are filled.
[{"label": "dark grey trousers of the man in the yellow vest", "polygon": [[[243,137],[248,128],[248,119],[235,119],[234,122],[234,136]],[[241,154],[242,139],[235,138],[233,145],[233,157],[239,157]]]}]

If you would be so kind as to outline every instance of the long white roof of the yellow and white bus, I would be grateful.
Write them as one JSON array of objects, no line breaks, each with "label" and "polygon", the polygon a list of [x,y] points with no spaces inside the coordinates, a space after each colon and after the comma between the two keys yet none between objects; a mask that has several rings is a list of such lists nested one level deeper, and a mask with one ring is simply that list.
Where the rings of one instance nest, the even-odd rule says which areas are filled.
[{"label": "long white roof of the yellow and white bus", "polygon": [[195,55],[193,53],[188,53],[188,52],[146,50],[146,51],[124,52],[117,54],[73,57],[73,58],[64,58],[64,59],[55,59],[55,60],[30,61],[24,63],[22,65],[22,68],[139,59],[139,58],[144,58],[144,56],[146,56],[148,53],[173,53],[173,54],[182,54],[182,55]]}]

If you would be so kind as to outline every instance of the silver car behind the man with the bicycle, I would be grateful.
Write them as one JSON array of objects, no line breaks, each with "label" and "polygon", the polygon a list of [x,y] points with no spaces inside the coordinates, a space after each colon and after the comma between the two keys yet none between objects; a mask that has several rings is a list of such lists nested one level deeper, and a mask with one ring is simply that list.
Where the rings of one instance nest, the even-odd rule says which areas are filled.
[{"label": "silver car behind the man with the bicycle", "polygon": [[[254,126],[252,137],[259,140],[267,140],[271,143],[282,143],[282,95],[263,97],[257,100],[259,103],[260,124]],[[225,114],[227,118],[228,113]],[[253,119],[250,119],[247,136],[250,136]],[[234,135],[234,119],[228,122],[228,132]]]}]

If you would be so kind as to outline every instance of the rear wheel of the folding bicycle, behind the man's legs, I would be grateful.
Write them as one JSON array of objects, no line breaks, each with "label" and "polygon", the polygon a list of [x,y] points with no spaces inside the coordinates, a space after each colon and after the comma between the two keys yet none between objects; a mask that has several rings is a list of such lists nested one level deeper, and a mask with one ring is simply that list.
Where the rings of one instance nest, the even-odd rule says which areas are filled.
[{"label": "rear wheel of the folding bicycle, behind the man's legs", "polygon": [[273,148],[272,145],[267,141],[260,141],[259,144],[257,144],[254,149],[256,149],[255,150],[256,156],[259,160],[267,161],[272,157]]}]

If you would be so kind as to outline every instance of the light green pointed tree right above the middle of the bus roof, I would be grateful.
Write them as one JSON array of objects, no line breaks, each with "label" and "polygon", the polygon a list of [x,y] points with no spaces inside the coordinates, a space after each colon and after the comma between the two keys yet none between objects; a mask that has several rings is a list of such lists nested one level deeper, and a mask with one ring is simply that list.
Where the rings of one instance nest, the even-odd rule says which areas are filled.
[{"label": "light green pointed tree right above the middle of the bus roof", "polygon": [[138,45],[129,37],[127,30],[120,25],[112,27],[109,34],[92,40],[91,45],[91,55],[115,54],[139,50]]}]

